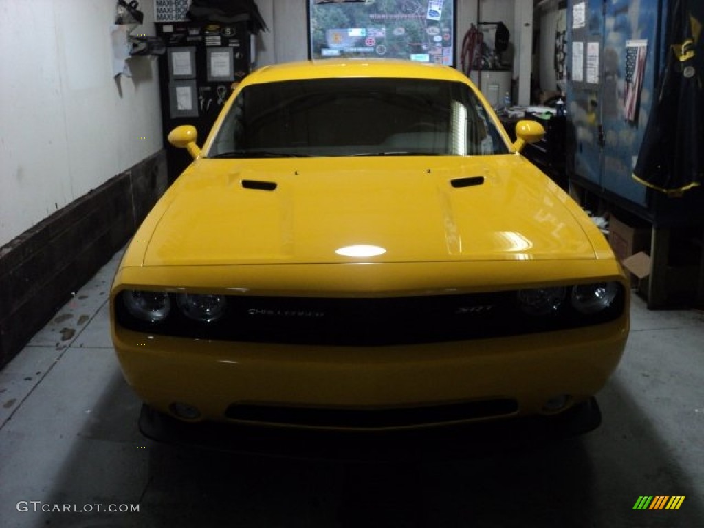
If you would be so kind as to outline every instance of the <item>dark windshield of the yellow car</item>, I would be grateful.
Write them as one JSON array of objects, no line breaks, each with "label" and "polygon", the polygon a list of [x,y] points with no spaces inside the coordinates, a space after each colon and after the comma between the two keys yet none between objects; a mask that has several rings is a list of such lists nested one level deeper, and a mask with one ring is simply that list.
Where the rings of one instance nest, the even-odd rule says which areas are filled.
[{"label": "dark windshield of the yellow car", "polygon": [[245,87],[218,130],[208,158],[507,152],[466,84],[363,77]]}]

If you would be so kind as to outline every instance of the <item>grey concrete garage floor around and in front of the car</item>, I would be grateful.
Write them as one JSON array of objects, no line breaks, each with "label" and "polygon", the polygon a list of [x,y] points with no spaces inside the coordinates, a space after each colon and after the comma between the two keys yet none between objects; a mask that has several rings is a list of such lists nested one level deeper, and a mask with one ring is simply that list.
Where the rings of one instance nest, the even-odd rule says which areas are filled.
[{"label": "grey concrete garage floor around and in front of the car", "polygon": [[[603,424],[578,439],[406,463],[262,458],[139,434],[108,332],[118,258],[0,371],[2,527],[704,526],[700,312],[634,298]],[[633,510],[641,495],[686,499]]]}]

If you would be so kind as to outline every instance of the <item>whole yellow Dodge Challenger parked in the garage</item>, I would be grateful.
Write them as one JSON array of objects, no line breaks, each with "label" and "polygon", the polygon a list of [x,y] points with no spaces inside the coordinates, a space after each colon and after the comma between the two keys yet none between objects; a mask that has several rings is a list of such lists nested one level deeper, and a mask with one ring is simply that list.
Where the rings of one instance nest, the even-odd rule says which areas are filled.
[{"label": "whole yellow Dodge Challenger parked in the garage", "polygon": [[[122,371],[169,420],[390,431],[562,415],[620,361],[603,235],[452,68],[274,65],[241,82],[111,290]],[[552,418],[551,418],[552,419]],[[218,426],[227,427],[227,426]]]}]

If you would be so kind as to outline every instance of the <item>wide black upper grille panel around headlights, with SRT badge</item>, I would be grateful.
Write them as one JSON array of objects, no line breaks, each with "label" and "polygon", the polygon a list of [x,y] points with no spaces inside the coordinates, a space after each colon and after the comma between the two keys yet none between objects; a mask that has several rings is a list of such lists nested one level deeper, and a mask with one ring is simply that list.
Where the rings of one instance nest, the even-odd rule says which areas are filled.
[{"label": "wide black upper grille panel around headlights, with SRT badge", "polygon": [[520,309],[515,291],[391,298],[229,296],[226,314],[217,322],[194,322],[174,308],[164,322],[149,324],[127,313],[118,296],[115,313],[123,327],[151,334],[262,343],[379,346],[505,337],[596,325],[620,316],[624,292],[620,291],[608,309],[594,315],[577,313],[569,301],[563,305],[552,315],[536,317]]}]

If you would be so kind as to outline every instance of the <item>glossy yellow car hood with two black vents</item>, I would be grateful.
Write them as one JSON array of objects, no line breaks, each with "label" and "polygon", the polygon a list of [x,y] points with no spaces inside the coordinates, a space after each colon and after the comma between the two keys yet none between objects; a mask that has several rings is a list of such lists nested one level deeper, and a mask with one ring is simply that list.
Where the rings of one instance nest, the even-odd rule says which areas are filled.
[{"label": "glossy yellow car hood with two black vents", "polygon": [[147,266],[595,258],[591,222],[517,155],[202,159],[152,215]]}]

